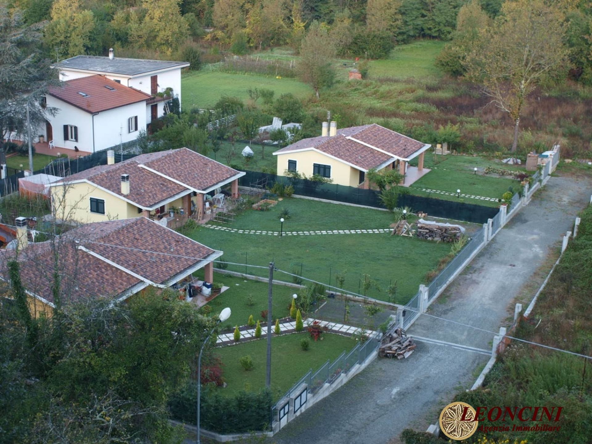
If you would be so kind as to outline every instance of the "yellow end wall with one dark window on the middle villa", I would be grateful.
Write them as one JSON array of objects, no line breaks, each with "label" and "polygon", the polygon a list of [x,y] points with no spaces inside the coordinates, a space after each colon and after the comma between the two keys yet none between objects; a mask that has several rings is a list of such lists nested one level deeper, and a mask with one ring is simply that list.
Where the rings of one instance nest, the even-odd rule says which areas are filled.
[{"label": "yellow end wall with one dark window on the middle villa", "polygon": [[[105,214],[91,213],[91,197],[105,201]],[[86,183],[66,185],[65,196],[63,186],[53,186],[52,205],[56,218],[81,223],[127,219],[140,215],[135,205]]]}]

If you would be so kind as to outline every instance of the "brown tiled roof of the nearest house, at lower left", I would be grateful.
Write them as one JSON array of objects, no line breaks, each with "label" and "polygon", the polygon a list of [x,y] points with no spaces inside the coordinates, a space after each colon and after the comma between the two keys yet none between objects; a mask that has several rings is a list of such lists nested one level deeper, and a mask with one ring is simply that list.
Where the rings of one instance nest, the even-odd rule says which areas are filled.
[{"label": "brown tiled roof of the nearest house, at lower left", "polygon": [[[216,253],[144,217],[86,224],[63,234],[57,244],[66,300],[86,296],[118,297],[143,284],[142,279],[110,262],[156,284],[170,285],[197,266],[200,259]],[[110,262],[81,250],[81,246]],[[0,252],[4,264],[0,274],[5,279],[8,276],[5,264],[13,256],[14,250]],[[30,244],[20,253],[19,262],[25,288],[53,302],[50,242]]]}]

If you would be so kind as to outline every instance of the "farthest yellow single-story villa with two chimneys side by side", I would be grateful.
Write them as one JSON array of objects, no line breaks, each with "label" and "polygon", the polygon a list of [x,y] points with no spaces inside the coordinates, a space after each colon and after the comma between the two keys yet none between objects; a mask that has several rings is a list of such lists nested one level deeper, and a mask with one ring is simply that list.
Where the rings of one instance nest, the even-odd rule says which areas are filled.
[{"label": "farthest yellow single-story villa with two chimneys side by side", "polygon": [[[329,129],[330,128],[330,129]],[[329,131],[327,131],[329,130]],[[430,170],[423,168],[424,153],[430,144],[411,139],[377,124],[337,130],[337,123],[323,122],[320,137],[298,140],[277,150],[278,175],[287,171],[319,175],[333,184],[369,188],[370,169],[397,169],[409,186]],[[409,161],[418,157],[416,167]]]}]

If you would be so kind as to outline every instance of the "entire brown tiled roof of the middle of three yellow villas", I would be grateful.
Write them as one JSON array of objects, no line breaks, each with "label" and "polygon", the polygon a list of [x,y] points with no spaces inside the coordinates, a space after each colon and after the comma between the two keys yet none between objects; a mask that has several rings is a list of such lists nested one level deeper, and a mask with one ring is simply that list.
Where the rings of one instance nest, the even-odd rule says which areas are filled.
[{"label": "entire brown tiled roof of the middle of three yellow villas", "polygon": [[[160,174],[141,168],[140,165],[146,165]],[[130,194],[127,195],[121,194],[122,174],[130,176]],[[143,154],[115,165],[95,166],[67,176],[56,184],[85,179],[125,197],[139,207],[150,208],[184,191],[189,192],[188,188],[177,182],[203,191],[220,186],[219,184],[238,174],[240,171],[187,148],[181,148]]]}]

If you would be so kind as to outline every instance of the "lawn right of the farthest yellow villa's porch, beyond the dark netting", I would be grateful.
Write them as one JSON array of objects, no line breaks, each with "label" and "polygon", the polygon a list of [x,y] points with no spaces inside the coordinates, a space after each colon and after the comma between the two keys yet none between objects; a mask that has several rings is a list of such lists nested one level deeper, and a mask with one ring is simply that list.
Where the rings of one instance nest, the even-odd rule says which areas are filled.
[{"label": "lawn right of the farthest yellow villa's porch, beyond the dark netting", "polygon": [[[419,181],[414,182],[410,188],[437,189],[438,191],[448,191],[455,194],[460,189],[462,194],[501,198],[509,187],[517,192],[520,188],[520,182],[516,179],[494,178],[469,172],[459,172],[454,170],[433,169]],[[433,194],[432,197],[440,198],[439,194]],[[485,201],[465,198],[466,202],[480,204]],[[494,202],[496,203],[496,202]]]}]

